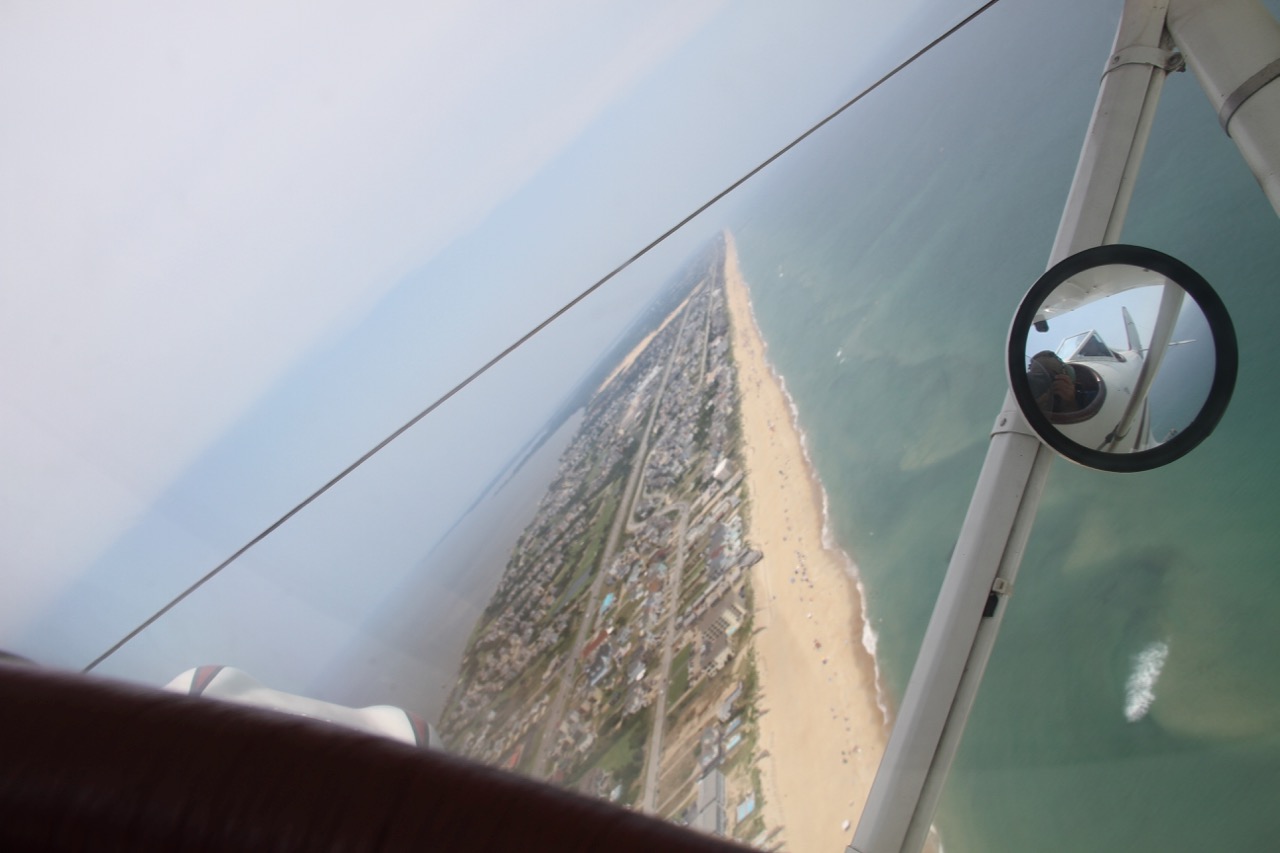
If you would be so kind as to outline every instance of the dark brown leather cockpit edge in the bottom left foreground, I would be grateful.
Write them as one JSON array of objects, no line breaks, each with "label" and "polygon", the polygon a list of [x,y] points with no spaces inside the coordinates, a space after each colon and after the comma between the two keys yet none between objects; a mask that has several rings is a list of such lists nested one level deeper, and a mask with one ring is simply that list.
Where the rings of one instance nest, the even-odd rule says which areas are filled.
[{"label": "dark brown leather cockpit edge in the bottom left foreground", "polygon": [[745,848],[312,720],[0,663],[0,849]]}]

